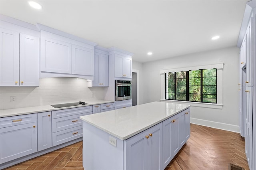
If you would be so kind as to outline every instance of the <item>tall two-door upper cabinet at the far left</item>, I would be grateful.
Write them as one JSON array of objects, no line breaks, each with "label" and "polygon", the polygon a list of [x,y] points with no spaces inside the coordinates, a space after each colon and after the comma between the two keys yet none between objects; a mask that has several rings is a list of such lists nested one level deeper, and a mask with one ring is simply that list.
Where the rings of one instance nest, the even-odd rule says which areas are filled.
[{"label": "tall two-door upper cabinet at the far left", "polygon": [[39,32],[1,23],[0,86],[39,86]]}]

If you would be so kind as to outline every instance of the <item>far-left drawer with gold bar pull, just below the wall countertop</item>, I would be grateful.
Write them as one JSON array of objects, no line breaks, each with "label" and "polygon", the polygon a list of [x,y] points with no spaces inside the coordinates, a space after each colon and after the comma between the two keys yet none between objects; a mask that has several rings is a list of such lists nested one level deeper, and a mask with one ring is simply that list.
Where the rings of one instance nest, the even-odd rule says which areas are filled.
[{"label": "far-left drawer with gold bar pull, just below the wall countertop", "polygon": [[36,113],[0,118],[0,128],[36,122]]}]

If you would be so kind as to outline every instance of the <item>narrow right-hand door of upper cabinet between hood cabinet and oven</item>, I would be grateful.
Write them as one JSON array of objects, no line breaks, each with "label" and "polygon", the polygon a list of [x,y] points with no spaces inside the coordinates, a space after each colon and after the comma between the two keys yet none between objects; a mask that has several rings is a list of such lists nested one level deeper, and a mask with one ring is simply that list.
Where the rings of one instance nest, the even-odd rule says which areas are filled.
[{"label": "narrow right-hand door of upper cabinet between hood cabinet and oven", "polygon": [[100,57],[100,79],[101,79],[101,86],[107,87],[108,86],[108,55],[102,54]]}]

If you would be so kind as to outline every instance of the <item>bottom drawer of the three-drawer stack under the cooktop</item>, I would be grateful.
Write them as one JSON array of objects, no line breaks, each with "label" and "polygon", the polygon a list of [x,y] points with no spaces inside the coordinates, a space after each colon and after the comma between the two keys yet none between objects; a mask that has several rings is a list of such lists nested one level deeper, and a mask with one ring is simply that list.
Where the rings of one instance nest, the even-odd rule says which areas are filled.
[{"label": "bottom drawer of the three-drawer stack under the cooktop", "polygon": [[83,136],[83,126],[52,133],[52,146],[62,144]]}]

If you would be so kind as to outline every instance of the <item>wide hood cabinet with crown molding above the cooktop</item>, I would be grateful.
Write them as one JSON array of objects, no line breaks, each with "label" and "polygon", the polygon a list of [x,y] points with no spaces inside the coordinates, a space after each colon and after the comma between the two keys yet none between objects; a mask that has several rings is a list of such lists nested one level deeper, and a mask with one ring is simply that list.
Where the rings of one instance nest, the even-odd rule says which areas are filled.
[{"label": "wide hood cabinet with crown molding above the cooktop", "polygon": [[41,29],[41,77],[94,79],[96,43],[38,24]]}]

